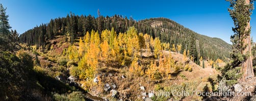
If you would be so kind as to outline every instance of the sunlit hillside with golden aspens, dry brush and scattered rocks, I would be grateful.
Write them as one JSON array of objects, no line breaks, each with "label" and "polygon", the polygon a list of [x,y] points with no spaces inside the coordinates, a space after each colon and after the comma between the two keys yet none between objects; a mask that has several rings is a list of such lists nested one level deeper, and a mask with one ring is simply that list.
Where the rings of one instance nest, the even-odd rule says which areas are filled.
[{"label": "sunlit hillside with golden aspens, dry brush and scattered rocks", "polygon": [[[135,27],[129,28],[127,34],[119,33],[118,36],[115,34],[113,30],[105,30],[101,36],[98,36],[97,32],[92,31],[83,38],[74,40],[73,45],[70,44],[70,37],[67,37],[68,40],[65,42],[66,36],[61,35],[48,40],[50,47],[48,49],[43,50],[42,46],[37,49],[36,45],[29,45],[24,49],[38,53],[40,67],[36,67],[37,70],[53,78],[63,76],[65,80],[69,75],[74,76],[75,82],[81,88],[93,96],[104,99],[140,100],[147,97],[152,100],[170,98],[191,100],[201,97],[196,95],[151,97],[148,90],[170,92],[176,89],[191,93],[193,90],[203,90],[206,85],[211,91],[216,89],[217,75],[220,73],[212,68],[208,61],[204,60],[205,68],[202,68],[190,60],[189,55],[182,55],[178,51],[165,51],[170,50],[170,47],[162,45],[159,38],[147,41],[147,37],[150,36],[138,34]],[[147,48],[147,45],[136,47],[140,47],[139,44],[143,43],[139,38],[141,35],[145,39],[145,44],[153,48],[152,50]],[[111,37],[114,38],[113,43]],[[98,39],[99,43],[97,43]],[[176,50],[172,49],[172,51]],[[211,64],[217,66],[217,62]],[[113,91],[117,93],[113,94]]]}]

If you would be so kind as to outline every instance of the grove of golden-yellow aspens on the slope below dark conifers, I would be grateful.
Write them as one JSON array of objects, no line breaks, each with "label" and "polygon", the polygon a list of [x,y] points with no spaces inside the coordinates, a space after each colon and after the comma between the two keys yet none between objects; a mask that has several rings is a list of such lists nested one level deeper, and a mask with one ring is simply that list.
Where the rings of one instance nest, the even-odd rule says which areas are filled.
[{"label": "grove of golden-yellow aspens on the slope below dark conifers", "polygon": [[[166,57],[162,54],[163,49],[170,49],[169,43],[161,43],[158,37],[153,39],[148,34],[138,33],[135,27],[130,27],[126,33],[118,35],[113,28],[111,31],[104,30],[100,35],[92,30],[79,39],[78,45],[70,45],[63,55],[78,62],[77,74],[84,80],[93,79],[102,64],[106,66],[108,63],[129,66],[130,74],[148,76],[151,80],[171,79],[171,73],[180,68],[171,55]],[[180,47],[177,45],[178,52]],[[153,61],[145,66],[139,64],[142,54],[148,56],[152,52],[155,58],[159,59],[159,66]]]}]

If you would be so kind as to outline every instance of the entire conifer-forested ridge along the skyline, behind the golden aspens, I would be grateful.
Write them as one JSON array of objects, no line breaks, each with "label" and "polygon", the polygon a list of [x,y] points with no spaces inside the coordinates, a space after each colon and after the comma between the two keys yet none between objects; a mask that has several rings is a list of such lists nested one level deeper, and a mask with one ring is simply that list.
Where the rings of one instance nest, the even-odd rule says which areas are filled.
[{"label": "entire conifer-forested ridge along the skyline, behind the golden aspens", "polygon": [[[226,60],[229,58],[229,52],[231,52],[231,45],[225,41],[200,35],[167,18],[136,21],[132,17],[128,19],[120,15],[111,17],[98,15],[95,18],[91,15],[70,14],[63,18],[52,19],[47,24],[41,24],[24,32],[19,36],[19,42],[28,43],[28,45],[37,44],[38,47],[42,46],[44,49],[49,48],[46,47],[49,44],[48,40],[54,39],[58,35],[70,37],[70,42],[73,43],[75,39],[83,37],[86,32],[91,32],[91,30],[98,31],[101,35],[103,30],[114,28],[118,35],[120,32],[126,32],[131,26],[135,26],[138,32],[147,33],[154,39],[159,37],[161,42],[169,43],[170,47],[173,44],[175,46],[181,45],[180,53],[183,53],[185,49],[194,49],[198,57],[203,59],[217,60],[219,58]],[[191,40],[196,41],[193,43]],[[177,47],[175,47],[175,51],[177,52]]]}]

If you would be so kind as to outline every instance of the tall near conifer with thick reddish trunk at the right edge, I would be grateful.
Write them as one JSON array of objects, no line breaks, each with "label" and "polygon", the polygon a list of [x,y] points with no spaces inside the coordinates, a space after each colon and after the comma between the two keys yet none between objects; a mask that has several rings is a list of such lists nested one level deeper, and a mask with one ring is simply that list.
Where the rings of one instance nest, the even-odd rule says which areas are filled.
[{"label": "tall near conifer with thick reddish trunk at the right edge", "polygon": [[242,80],[254,77],[251,57],[251,41],[250,41],[250,16],[253,10],[253,1],[250,0],[227,0],[231,3],[228,12],[231,15],[235,27],[232,28],[234,35],[231,36],[233,43],[233,53],[231,58],[232,64],[225,68],[222,73],[227,70],[242,65]]}]

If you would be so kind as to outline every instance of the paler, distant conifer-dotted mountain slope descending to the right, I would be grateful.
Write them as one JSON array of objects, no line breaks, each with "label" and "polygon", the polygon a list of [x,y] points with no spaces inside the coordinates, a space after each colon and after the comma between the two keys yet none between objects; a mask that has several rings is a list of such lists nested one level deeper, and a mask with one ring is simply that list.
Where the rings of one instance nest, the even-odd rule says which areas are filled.
[{"label": "paler, distant conifer-dotted mountain slope descending to the right", "polygon": [[[188,47],[189,40],[191,39],[191,34],[195,34],[198,52],[200,56],[204,56],[203,58],[205,59],[209,58],[216,60],[217,58],[220,58],[225,60],[226,58],[229,58],[231,44],[226,43],[220,38],[212,38],[198,34],[167,18],[151,18],[140,22],[160,30],[160,32],[157,32],[156,37],[161,37],[161,41],[168,42],[169,40],[170,44],[185,45],[183,48],[187,47],[190,49]],[[170,39],[168,37],[170,37]]]}]

